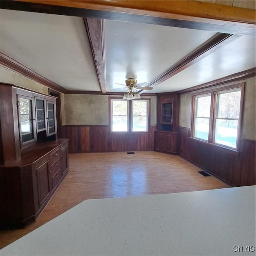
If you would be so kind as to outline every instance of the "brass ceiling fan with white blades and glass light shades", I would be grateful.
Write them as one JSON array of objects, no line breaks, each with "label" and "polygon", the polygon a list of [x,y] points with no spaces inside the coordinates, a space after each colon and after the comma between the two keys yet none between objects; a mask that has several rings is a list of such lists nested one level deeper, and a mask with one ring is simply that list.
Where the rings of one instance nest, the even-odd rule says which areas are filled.
[{"label": "brass ceiling fan with white blades and glass light shades", "polygon": [[[142,84],[148,84],[148,83],[142,83]],[[138,89],[142,90],[152,90],[152,87],[144,87],[140,86],[142,84],[137,84],[137,80],[134,78],[127,78],[125,80],[125,86],[124,88],[127,88],[127,92],[124,93],[123,99],[126,100],[133,100],[133,99],[140,99],[140,94],[138,93]],[[124,85],[124,84],[121,84]]]}]

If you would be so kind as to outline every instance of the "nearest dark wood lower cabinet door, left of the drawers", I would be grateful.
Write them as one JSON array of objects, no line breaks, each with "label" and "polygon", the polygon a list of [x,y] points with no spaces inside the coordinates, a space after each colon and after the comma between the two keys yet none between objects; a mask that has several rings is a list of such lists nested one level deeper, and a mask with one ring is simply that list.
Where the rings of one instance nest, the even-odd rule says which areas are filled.
[{"label": "nearest dark wood lower cabinet door, left of the drawers", "polygon": [[48,161],[42,164],[36,169],[37,186],[38,186],[38,204],[39,207],[48,198],[51,192],[51,186],[49,182],[49,164]]}]

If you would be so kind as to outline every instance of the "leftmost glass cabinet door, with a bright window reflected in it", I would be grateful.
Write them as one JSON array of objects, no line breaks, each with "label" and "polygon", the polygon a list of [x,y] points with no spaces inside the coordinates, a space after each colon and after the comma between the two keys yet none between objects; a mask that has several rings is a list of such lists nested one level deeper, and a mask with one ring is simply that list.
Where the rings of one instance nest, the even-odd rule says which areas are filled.
[{"label": "leftmost glass cabinet door, with a bright window reflected in it", "polygon": [[33,99],[18,95],[20,146],[34,141]]}]

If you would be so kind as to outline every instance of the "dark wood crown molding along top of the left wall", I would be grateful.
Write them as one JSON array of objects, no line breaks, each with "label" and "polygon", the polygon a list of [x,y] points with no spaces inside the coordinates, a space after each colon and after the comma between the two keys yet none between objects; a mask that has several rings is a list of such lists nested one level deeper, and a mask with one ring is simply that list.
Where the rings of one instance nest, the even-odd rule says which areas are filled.
[{"label": "dark wood crown molding along top of the left wall", "polygon": [[58,92],[63,93],[67,92],[67,90],[61,87],[60,85],[48,80],[44,76],[41,76],[31,68],[28,68],[27,66],[21,64],[20,62],[14,60],[12,57],[8,56],[7,54],[4,54],[3,52],[0,52],[0,65],[18,74],[21,74],[22,76],[30,78],[40,84],[43,84],[44,86],[47,86],[52,90],[56,90]]}]

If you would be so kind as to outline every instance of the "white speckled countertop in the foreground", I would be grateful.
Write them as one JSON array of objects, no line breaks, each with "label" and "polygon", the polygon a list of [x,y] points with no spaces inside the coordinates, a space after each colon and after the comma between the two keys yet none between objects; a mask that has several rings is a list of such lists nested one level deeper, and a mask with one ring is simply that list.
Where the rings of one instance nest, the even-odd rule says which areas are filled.
[{"label": "white speckled countertop in the foreground", "polygon": [[85,200],[0,255],[255,255],[255,188]]}]

